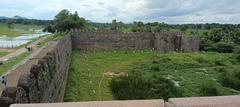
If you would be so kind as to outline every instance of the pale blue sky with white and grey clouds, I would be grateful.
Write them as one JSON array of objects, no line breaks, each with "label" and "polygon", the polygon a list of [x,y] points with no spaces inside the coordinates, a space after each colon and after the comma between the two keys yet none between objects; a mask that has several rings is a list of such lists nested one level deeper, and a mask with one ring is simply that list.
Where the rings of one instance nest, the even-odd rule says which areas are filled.
[{"label": "pale blue sky with white and grey clouds", "polygon": [[182,23],[240,23],[240,0],[1,0],[0,16],[53,19],[62,9],[94,22],[117,19]]}]

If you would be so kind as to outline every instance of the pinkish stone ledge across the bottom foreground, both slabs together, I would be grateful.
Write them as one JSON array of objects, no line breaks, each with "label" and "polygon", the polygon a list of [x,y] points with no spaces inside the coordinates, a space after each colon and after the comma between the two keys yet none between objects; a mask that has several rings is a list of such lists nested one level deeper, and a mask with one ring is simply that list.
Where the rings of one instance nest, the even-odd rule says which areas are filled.
[{"label": "pinkish stone ledge across the bottom foreground, both slabs together", "polygon": [[189,97],[154,100],[68,102],[54,104],[14,104],[10,107],[240,107],[240,96]]}]

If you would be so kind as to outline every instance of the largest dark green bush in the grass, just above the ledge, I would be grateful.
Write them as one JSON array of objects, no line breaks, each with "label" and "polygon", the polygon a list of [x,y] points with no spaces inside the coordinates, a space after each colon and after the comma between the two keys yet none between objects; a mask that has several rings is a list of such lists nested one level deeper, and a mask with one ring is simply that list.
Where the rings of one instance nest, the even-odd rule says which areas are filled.
[{"label": "largest dark green bush in the grass, just above the ledge", "polygon": [[131,72],[111,82],[111,89],[118,100],[168,99],[181,96],[174,83],[159,75],[144,77],[143,73]]}]

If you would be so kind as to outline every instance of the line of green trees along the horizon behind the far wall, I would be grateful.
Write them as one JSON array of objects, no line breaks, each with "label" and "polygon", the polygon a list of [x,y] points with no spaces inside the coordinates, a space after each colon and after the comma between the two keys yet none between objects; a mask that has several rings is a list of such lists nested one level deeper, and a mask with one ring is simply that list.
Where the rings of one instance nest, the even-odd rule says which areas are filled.
[{"label": "line of green trees along the horizon behind the far wall", "polygon": [[233,52],[240,44],[240,24],[166,24],[164,22],[144,23],[135,21],[123,23],[112,20],[112,23],[96,23],[87,21],[80,17],[77,12],[71,13],[63,9],[54,20],[35,19],[1,19],[0,23],[6,23],[9,27],[12,24],[34,24],[46,26],[43,30],[48,32],[68,32],[71,29],[94,29],[94,30],[116,30],[120,32],[161,32],[177,31],[183,32],[186,36],[197,35],[201,39],[200,50],[217,51],[223,53]]}]

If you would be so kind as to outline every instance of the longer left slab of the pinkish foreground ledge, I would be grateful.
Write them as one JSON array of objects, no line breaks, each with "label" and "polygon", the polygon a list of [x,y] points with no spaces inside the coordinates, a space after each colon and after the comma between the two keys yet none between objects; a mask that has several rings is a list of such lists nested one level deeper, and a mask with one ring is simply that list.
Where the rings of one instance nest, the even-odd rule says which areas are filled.
[{"label": "longer left slab of the pinkish foreground ledge", "polygon": [[164,107],[163,100],[91,101],[49,104],[13,104],[10,107]]}]

